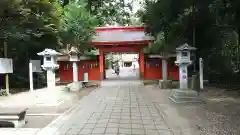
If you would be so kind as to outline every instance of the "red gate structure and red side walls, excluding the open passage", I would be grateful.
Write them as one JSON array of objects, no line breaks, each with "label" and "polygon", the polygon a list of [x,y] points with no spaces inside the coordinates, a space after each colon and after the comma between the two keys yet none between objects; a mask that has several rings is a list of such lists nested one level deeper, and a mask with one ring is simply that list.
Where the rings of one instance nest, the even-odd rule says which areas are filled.
[{"label": "red gate structure and red side walls, excluding the open passage", "polygon": [[[126,27],[98,27],[97,35],[90,45],[99,49],[98,59],[81,60],[78,63],[78,79],[83,80],[84,72],[88,73],[89,80],[103,80],[105,76],[104,53],[109,52],[135,52],[139,54],[139,71],[142,79],[161,79],[162,65],[160,58],[145,58],[143,48],[152,42],[152,37],[144,32],[144,26]],[[178,68],[174,60],[168,64],[168,75],[178,80]],[[67,59],[60,60],[60,81],[72,82],[72,63]]]}]

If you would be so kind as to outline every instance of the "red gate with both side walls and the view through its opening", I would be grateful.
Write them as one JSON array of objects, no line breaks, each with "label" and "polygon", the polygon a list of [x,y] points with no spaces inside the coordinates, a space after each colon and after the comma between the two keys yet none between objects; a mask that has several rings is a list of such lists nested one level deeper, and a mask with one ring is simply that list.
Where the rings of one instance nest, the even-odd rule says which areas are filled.
[{"label": "red gate with both side walls and the view through its opening", "polygon": [[[150,54],[144,55],[143,48],[153,41],[153,38],[144,31],[144,26],[96,28],[96,35],[89,44],[98,48],[99,53],[94,57],[81,57],[77,63],[78,80],[83,81],[85,77],[89,81],[161,80],[162,58],[160,56],[153,58]],[[120,66],[119,76],[113,72],[113,63],[109,64],[108,59],[112,55],[119,58],[117,61]],[[134,57],[128,59],[129,55]],[[66,58],[59,60],[60,81],[69,83],[73,81],[72,62],[68,55],[64,57]],[[174,61],[174,55],[173,59],[168,59],[167,74],[171,80],[178,80],[179,70]],[[134,67],[135,70],[132,70]]]}]

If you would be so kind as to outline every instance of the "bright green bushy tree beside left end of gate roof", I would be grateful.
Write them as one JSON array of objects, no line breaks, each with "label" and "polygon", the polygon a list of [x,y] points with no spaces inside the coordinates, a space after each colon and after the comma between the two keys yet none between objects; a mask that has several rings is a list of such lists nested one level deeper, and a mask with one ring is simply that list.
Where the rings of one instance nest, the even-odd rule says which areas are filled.
[{"label": "bright green bushy tree beside left end of gate roof", "polygon": [[80,51],[86,50],[95,34],[98,19],[86,10],[84,1],[70,2],[64,7],[61,18],[60,35],[64,48],[75,46]]}]

